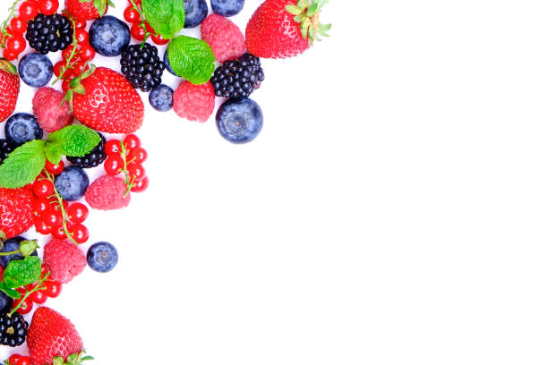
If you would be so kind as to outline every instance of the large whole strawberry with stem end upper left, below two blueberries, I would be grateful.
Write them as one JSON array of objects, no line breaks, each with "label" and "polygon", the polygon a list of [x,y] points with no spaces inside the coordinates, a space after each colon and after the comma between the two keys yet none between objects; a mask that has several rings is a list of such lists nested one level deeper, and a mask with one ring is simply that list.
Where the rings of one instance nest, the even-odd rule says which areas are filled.
[{"label": "large whole strawberry with stem end upper left, below two blueberries", "polygon": [[73,93],[73,114],[81,123],[107,133],[133,133],[141,127],[144,105],[122,74],[98,67],[81,86],[84,94],[78,86]]}]

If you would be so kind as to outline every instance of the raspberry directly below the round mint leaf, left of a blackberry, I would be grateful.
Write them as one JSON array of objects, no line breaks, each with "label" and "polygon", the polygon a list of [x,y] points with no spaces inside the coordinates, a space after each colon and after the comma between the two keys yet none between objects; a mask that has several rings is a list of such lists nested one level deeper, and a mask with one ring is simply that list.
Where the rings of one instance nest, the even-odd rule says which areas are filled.
[{"label": "raspberry directly below the round mint leaf, left of a blackberry", "polygon": [[173,93],[173,109],[181,118],[206,122],[215,107],[215,90],[210,82],[193,85],[184,81]]}]

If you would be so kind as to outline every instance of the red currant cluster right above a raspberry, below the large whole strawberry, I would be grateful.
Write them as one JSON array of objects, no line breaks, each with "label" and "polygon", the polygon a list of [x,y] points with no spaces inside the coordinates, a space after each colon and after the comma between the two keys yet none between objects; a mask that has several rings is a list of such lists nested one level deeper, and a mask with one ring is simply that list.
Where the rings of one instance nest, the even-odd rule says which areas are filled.
[{"label": "red currant cluster right above a raspberry, below the large whole strawberry", "polygon": [[109,175],[124,174],[128,191],[141,192],[149,187],[149,177],[141,165],[149,156],[141,147],[141,140],[128,134],[124,140],[108,140],[105,145],[107,159],[103,167]]}]

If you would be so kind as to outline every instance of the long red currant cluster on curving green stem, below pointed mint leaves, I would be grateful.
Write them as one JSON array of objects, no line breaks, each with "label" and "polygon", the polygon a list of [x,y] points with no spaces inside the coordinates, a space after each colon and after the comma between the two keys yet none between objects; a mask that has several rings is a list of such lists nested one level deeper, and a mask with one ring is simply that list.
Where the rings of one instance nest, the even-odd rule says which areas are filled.
[{"label": "long red currant cluster on curving green stem, below pointed mint leaves", "polygon": [[89,209],[84,204],[69,203],[56,191],[54,176],[61,174],[64,163],[53,165],[46,162],[46,170],[32,184],[32,191],[36,195],[34,211],[36,220],[34,226],[38,233],[49,234],[59,240],[70,238],[71,241],[81,244],[90,238],[90,231],[82,223],[89,214]]}]

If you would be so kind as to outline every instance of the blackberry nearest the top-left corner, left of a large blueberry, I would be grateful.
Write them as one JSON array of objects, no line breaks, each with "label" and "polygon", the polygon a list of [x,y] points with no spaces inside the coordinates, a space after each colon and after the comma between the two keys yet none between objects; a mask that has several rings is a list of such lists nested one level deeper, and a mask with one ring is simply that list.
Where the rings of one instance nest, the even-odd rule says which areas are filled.
[{"label": "blackberry nearest the top-left corner, left of a large blueberry", "polygon": [[30,47],[42,55],[64,50],[73,43],[73,25],[61,14],[38,14],[29,21],[25,38]]}]

